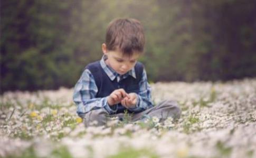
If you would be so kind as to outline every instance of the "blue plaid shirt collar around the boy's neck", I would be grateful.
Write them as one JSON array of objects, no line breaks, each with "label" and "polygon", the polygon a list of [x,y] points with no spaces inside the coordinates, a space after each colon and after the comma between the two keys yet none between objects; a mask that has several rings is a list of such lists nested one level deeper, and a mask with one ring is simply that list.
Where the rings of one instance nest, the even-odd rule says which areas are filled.
[{"label": "blue plaid shirt collar around the boy's neck", "polygon": [[103,68],[103,70],[106,72],[106,74],[109,76],[110,80],[113,81],[115,80],[116,77],[120,77],[120,78],[126,78],[129,75],[136,78],[136,73],[135,73],[135,68],[132,67],[132,69],[130,71],[128,71],[126,74],[124,75],[119,75],[115,70],[113,70],[113,68],[111,68],[110,66],[108,66],[105,61],[107,60],[107,55],[103,55],[101,60],[100,60],[100,66]]}]

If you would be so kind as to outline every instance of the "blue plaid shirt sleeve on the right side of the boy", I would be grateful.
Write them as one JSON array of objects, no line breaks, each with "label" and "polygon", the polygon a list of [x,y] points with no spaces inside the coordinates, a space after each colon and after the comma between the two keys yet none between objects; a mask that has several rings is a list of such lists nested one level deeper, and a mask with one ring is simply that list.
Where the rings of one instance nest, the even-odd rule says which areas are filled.
[{"label": "blue plaid shirt sleeve on the right side of the boy", "polygon": [[129,108],[133,112],[145,111],[148,108],[153,107],[151,100],[151,87],[147,81],[147,74],[145,69],[143,70],[143,76],[139,82],[139,93],[137,94],[137,104],[133,108]]}]

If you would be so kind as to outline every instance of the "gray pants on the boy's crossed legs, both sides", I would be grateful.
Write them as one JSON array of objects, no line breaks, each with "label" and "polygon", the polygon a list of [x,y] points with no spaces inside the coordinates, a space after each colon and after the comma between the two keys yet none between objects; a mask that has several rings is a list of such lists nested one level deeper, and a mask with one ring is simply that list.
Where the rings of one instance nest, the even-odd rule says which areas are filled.
[{"label": "gray pants on the boy's crossed legs, both sides", "polygon": [[[84,125],[89,126],[92,122],[97,121],[97,125],[105,125],[107,123],[108,117],[119,117],[122,120],[124,113],[109,115],[104,108],[98,110],[92,110],[84,115]],[[165,100],[160,102],[158,105],[148,108],[147,110],[130,114],[131,121],[143,120],[145,116],[158,117],[160,121],[164,121],[167,117],[179,118],[181,116],[181,109],[178,107],[176,101]]]}]

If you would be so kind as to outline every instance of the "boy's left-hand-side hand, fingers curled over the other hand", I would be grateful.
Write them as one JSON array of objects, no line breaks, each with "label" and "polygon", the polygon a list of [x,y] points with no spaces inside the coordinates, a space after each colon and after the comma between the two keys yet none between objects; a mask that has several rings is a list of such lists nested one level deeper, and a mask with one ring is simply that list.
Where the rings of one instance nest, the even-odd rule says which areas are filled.
[{"label": "boy's left-hand-side hand, fingers curled over the other hand", "polygon": [[113,91],[109,95],[107,102],[108,102],[109,106],[112,106],[112,105],[120,103],[122,101],[122,99],[124,99],[125,97],[129,98],[129,96],[125,92],[125,90],[121,88],[121,89]]}]

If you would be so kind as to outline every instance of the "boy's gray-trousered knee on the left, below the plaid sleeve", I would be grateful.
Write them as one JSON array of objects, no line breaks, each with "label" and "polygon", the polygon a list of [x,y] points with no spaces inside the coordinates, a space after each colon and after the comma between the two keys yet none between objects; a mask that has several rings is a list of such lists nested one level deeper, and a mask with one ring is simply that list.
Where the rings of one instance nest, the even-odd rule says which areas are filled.
[{"label": "boy's gray-trousered knee on the left, below the plaid sleeve", "polygon": [[92,110],[84,115],[84,125],[88,126],[102,126],[107,122],[107,112],[103,109]]}]

